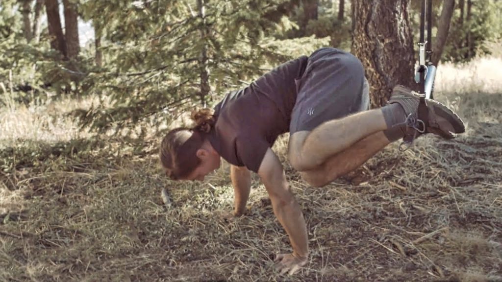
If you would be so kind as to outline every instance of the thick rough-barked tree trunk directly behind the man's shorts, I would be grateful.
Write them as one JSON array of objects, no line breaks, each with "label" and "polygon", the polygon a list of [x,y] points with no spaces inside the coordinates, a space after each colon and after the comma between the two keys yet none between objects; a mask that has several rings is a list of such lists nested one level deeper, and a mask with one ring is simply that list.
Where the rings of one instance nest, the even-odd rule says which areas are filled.
[{"label": "thick rough-barked tree trunk directly behind the man's shorts", "polygon": [[370,84],[371,107],[384,105],[396,84],[415,88],[408,0],[353,0],[351,52]]}]

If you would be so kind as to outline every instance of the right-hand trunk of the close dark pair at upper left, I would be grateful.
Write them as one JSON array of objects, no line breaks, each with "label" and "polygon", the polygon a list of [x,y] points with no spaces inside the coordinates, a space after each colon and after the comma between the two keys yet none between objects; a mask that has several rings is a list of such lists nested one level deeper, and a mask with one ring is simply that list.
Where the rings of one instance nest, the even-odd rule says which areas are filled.
[{"label": "right-hand trunk of the close dark pair at upper left", "polygon": [[77,5],[71,0],[63,0],[65,39],[68,57],[73,59],[80,52],[80,42],[78,40],[78,13]]}]

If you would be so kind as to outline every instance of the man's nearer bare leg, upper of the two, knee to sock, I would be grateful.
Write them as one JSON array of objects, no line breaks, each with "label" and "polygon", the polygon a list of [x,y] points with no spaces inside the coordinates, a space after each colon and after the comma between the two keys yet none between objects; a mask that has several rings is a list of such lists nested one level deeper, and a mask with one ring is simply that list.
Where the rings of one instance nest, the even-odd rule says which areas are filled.
[{"label": "man's nearer bare leg, upper of the two, knee to sock", "polygon": [[[324,164],[331,156],[348,149],[359,140],[386,129],[388,126],[382,109],[363,111],[341,119],[329,120],[312,131],[299,131],[290,136],[289,161],[297,171],[313,170]],[[365,144],[373,148],[369,143]]]}]

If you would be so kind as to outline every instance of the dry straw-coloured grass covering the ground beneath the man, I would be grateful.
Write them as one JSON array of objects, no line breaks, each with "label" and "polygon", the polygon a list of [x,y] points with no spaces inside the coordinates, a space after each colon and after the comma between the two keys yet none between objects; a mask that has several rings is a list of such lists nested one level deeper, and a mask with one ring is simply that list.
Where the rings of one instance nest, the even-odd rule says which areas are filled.
[{"label": "dry straw-coloured grass covering the ground beneath the man", "polygon": [[[30,162],[22,153],[39,149],[14,150],[23,162],[0,173],[0,280],[502,281],[502,86],[476,64],[471,81],[448,76],[453,66],[439,68],[437,99],[468,123],[453,141],[426,136],[405,153],[393,145],[312,188],[284,160],[279,140],[310,239],[309,263],[294,276],[273,269],[271,256],[290,247],[258,179],[247,215],[228,221],[226,166],[205,183],[174,183],[160,174],[156,139],[102,137],[78,143],[86,150],[54,151],[54,140],[75,145],[70,133],[52,139],[45,125],[37,129],[47,135],[12,133],[9,140],[40,138],[46,147],[37,148],[57,154]],[[28,128],[36,120],[17,113],[7,122]]]}]

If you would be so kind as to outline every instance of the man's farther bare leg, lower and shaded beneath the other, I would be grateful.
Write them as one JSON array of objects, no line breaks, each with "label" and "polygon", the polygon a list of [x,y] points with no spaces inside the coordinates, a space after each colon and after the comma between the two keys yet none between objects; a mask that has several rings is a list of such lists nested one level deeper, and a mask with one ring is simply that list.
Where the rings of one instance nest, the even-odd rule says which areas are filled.
[{"label": "man's farther bare leg, lower and shaded beneath the other", "polygon": [[301,171],[303,180],[314,187],[322,187],[341,177],[380,152],[391,142],[383,131],[373,133],[350,146],[348,149],[329,157],[319,167]]}]

